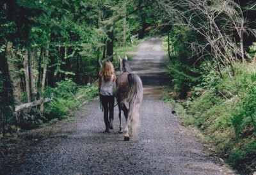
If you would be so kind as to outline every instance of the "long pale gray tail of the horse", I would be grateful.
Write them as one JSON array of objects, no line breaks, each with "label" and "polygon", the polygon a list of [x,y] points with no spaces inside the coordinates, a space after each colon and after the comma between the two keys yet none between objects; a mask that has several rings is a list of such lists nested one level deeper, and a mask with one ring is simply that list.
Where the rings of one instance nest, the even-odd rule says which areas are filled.
[{"label": "long pale gray tail of the horse", "polygon": [[128,119],[131,121],[132,135],[137,136],[140,129],[140,105],[143,98],[143,87],[138,75],[130,73],[128,75],[129,93],[127,101],[129,102]]}]

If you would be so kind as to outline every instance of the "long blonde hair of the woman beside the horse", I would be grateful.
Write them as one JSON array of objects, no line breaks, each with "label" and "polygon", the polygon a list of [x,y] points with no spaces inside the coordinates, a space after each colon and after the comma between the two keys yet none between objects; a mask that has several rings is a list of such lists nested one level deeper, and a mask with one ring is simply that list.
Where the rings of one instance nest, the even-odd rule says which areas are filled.
[{"label": "long blonde hair of the woman beside the horse", "polygon": [[113,75],[113,80],[116,79],[115,69],[111,62],[107,61],[102,69],[100,70],[99,77],[103,77],[105,82],[108,82],[111,79],[111,75]]}]

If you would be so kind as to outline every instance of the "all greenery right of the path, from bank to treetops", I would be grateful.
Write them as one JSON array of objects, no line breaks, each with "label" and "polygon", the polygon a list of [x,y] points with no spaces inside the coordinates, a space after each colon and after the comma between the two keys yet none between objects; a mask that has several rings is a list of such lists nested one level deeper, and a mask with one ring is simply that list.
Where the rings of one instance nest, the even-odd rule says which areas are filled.
[{"label": "all greenery right of the path, from bank to treetops", "polygon": [[[256,44],[253,43],[246,54],[253,59],[250,60],[253,64],[247,65],[243,60],[242,65],[239,59],[244,52],[243,45],[234,38],[238,31],[227,27],[250,23],[250,18],[244,22],[241,19],[245,15],[243,11],[254,1],[244,9],[242,1],[239,5],[234,1],[158,2],[170,25],[167,31],[172,50],[170,59],[179,59],[168,66],[173,88],[177,93],[182,89],[188,91],[188,101],[182,100],[188,110],[184,112],[183,109],[179,117],[183,121],[193,118],[189,125],[198,126],[211,138],[220,156],[230,156],[228,162],[237,171],[242,174],[255,172]],[[253,28],[248,29],[255,32]],[[217,39],[216,36],[225,38]],[[244,45],[251,42],[243,40]],[[191,67],[195,70],[189,72]]]}]

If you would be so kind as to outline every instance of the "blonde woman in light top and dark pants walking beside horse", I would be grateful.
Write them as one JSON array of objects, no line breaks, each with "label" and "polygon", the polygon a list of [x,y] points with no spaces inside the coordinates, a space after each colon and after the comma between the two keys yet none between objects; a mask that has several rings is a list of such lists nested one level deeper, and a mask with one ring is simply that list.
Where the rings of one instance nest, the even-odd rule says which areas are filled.
[{"label": "blonde woman in light top and dark pants walking beside horse", "polygon": [[113,130],[114,102],[113,84],[115,83],[115,69],[111,62],[106,62],[99,73],[99,95],[104,109],[105,132]]}]

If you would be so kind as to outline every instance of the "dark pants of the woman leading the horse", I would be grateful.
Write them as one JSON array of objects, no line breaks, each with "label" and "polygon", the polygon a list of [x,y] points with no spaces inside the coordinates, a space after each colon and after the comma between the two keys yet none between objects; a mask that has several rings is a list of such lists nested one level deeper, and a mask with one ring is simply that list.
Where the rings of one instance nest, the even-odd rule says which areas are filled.
[{"label": "dark pants of the woman leading the horse", "polygon": [[115,98],[113,95],[106,96],[100,95],[100,101],[104,109],[104,122],[106,125],[106,130],[109,129],[109,121],[114,119],[114,103]]}]

